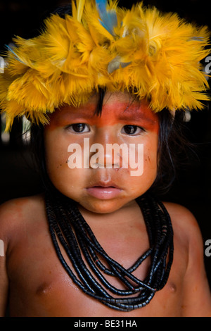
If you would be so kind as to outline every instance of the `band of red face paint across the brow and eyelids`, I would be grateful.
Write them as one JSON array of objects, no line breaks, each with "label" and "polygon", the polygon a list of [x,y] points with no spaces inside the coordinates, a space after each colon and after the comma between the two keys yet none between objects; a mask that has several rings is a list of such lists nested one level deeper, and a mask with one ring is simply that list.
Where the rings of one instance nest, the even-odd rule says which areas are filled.
[{"label": "band of red face paint across the brow and eyelids", "polygon": [[124,99],[110,97],[108,101],[104,101],[101,115],[95,113],[96,101],[93,100],[78,108],[63,106],[51,115],[49,129],[65,127],[72,123],[87,123],[97,127],[122,123],[122,125],[137,125],[158,132],[158,115],[151,111],[147,101],[130,101],[128,96],[127,100]]}]

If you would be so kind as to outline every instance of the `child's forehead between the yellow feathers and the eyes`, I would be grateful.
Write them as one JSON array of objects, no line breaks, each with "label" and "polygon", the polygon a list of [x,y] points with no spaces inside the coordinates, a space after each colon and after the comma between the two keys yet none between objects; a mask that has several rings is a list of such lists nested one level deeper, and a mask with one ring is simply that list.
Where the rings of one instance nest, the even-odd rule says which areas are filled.
[{"label": "child's forehead between the yellow feathers and the eyes", "polygon": [[63,125],[71,120],[87,120],[97,125],[140,122],[149,124],[158,122],[158,115],[151,111],[148,101],[138,101],[129,93],[106,93],[103,99],[101,115],[96,114],[98,96],[94,95],[86,104],[75,108],[65,105],[51,115],[51,123]]}]

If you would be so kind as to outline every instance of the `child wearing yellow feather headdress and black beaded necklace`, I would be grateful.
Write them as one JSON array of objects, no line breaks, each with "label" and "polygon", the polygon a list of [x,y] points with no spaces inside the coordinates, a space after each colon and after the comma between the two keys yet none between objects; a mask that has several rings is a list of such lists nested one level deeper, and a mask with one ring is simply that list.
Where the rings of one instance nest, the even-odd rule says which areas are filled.
[{"label": "child wearing yellow feather headdress and black beaded necklace", "polygon": [[32,122],[44,194],[1,206],[1,316],[211,316],[196,220],[152,194],[177,109],[207,100],[205,28],[79,0],[15,44],[1,107]]}]

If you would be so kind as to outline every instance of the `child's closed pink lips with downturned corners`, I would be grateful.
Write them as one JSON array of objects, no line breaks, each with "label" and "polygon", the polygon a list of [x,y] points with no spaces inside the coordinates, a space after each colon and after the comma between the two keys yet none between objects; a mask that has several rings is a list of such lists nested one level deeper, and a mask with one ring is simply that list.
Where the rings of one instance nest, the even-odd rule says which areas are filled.
[{"label": "child's closed pink lips with downturned corners", "polygon": [[120,187],[117,187],[116,185],[113,185],[113,183],[96,183],[96,185],[93,185],[91,187],[87,187],[87,193],[91,196],[94,196],[97,199],[113,199],[120,195],[122,192],[122,189]]}]

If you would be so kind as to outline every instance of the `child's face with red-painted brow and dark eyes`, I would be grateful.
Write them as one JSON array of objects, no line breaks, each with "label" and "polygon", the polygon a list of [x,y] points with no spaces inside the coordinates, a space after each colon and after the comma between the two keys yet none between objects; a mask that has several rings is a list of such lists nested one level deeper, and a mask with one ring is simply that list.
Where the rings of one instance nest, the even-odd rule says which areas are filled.
[{"label": "child's face with red-painted brow and dark eyes", "polygon": [[[46,166],[51,182],[60,192],[89,211],[110,213],[129,204],[153,184],[157,175],[159,123],[158,115],[146,101],[132,100],[127,93],[107,93],[101,115],[94,115],[97,99],[93,96],[79,108],[63,106],[51,115],[44,130]],[[77,146],[72,144],[81,146],[82,153],[76,154],[73,148]],[[96,147],[93,144],[101,148],[90,151]],[[114,156],[107,149],[108,144],[128,147],[128,163],[123,163],[121,149]],[[141,149],[138,152],[141,144],[143,154]],[[135,154],[130,146],[136,146]],[[71,155],[77,155],[75,162],[82,161],[77,163],[79,168],[70,169]],[[134,155],[136,159],[132,160]],[[139,161],[140,169],[143,165],[141,175],[140,169],[132,175],[136,170],[132,161]],[[88,164],[86,168],[84,162]]]}]

